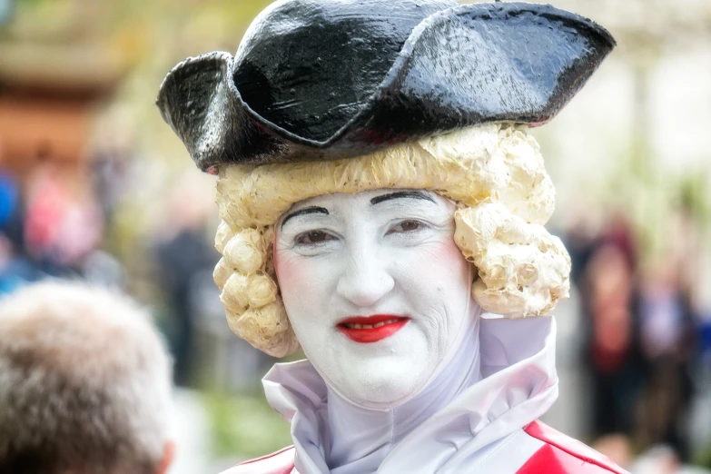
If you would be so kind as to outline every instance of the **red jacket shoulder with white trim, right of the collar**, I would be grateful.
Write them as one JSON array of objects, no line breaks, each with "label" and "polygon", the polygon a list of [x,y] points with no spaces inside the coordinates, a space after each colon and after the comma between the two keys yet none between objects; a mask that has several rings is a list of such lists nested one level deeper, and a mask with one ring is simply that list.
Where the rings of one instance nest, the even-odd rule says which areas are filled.
[{"label": "red jacket shoulder with white trim, right of the collar", "polygon": [[528,436],[543,442],[517,474],[627,474],[595,449],[534,421],[524,428]]}]

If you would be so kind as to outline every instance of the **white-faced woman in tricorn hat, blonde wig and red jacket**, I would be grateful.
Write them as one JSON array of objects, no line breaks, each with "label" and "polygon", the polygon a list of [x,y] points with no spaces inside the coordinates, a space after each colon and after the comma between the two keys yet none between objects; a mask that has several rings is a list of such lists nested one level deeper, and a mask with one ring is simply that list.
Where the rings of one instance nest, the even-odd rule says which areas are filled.
[{"label": "white-faced woman in tricorn hat, blonde wig and red jacket", "polygon": [[614,44],[549,5],[281,0],[173,68],[230,327],[308,357],[263,380],[293,446],[229,473],[623,472],[538,421],[570,261],[527,132]]}]

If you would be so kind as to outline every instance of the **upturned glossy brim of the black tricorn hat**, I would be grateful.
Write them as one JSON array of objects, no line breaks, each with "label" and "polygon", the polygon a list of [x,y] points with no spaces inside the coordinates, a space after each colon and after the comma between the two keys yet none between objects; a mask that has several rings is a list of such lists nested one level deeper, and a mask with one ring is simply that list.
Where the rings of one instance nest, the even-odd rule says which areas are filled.
[{"label": "upturned glossy brim of the black tricorn hat", "polygon": [[[265,118],[275,100],[270,87],[252,88],[245,101],[235,76],[239,84],[249,77],[238,74],[240,64],[228,53],[175,66],[157,104],[203,171],[223,163],[338,159],[479,123],[547,123],[614,46],[601,26],[550,5],[460,5],[416,26],[375,92],[344,123],[331,123],[338,128],[321,140],[288,116],[279,115],[281,123]],[[241,64],[248,60],[239,57]],[[329,68],[323,71],[311,81],[329,84]],[[265,80],[279,77],[262,76],[260,84]],[[329,84],[331,91],[348,87]]]}]

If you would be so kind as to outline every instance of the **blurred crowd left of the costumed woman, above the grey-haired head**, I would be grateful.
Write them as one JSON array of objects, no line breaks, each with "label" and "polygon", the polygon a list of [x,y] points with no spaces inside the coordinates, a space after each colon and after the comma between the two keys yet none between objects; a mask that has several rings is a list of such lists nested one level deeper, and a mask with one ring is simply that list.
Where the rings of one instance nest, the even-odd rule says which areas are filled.
[{"label": "blurred crowd left of the costumed woman, above the grey-haired head", "polygon": [[[212,197],[203,199],[201,185],[190,180],[173,183],[164,222],[148,242],[128,244],[132,255],[122,255],[113,242],[122,232],[117,206],[132,192],[130,167],[115,153],[87,163],[40,157],[22,178],[0,164],[0,296],[45,278],[138,293],[156,308],[179,386],[256,387],[269,359],[232,338],[212,282],[219,260],[211,242]],[[243,362],[239,370],[228,363],[233,357]]]}]

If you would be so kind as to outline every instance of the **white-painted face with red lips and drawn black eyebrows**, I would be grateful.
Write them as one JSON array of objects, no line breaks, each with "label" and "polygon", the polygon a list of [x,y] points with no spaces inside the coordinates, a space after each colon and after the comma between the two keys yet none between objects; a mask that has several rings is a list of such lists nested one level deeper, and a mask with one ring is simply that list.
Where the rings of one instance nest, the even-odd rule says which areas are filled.
[{"label": "white-painted face with red lips and drawn black eyebrows", "polygon": [[[332,389],[387,410],[422,390],[468,315],[472,272],[436,193],[326,194],[275,226],[281,297]],[[473,304],[473,303],[471,303]]]}]

